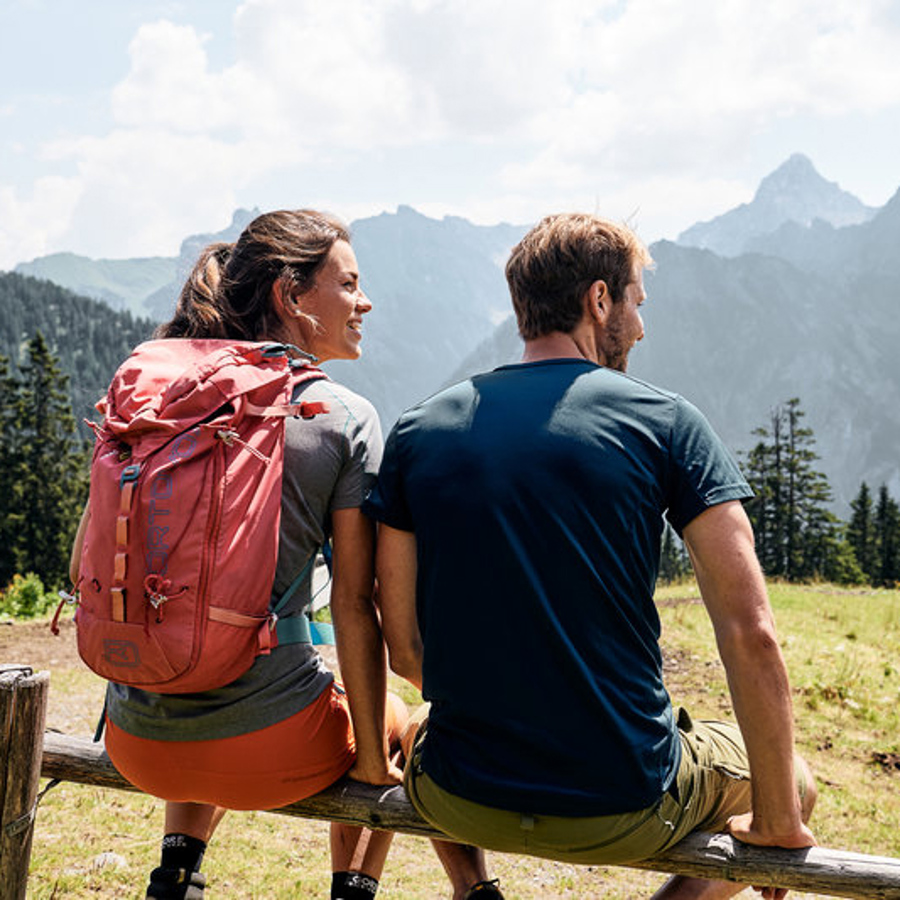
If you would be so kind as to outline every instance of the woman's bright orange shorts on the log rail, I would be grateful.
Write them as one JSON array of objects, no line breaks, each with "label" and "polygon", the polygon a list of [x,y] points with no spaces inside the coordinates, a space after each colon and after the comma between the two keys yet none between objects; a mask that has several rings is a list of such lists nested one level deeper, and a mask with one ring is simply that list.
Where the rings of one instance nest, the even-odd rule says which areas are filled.
[{"label": "woman's bright orange shorts on the log rail", "polygon": [[338,684],[283,722],[210,741],[134,737],[107,717],[106,752],[147,794],[227,809],[275,809],[310,797],[345,775],[356,758],[347,697]]}]

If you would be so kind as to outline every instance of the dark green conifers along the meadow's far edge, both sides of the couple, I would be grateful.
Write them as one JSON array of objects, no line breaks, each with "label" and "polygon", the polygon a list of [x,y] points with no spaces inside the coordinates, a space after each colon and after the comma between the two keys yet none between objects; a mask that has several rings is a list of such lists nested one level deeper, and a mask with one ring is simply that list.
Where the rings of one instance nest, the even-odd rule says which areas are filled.
[{"label": "dark green conifers along the meadow's far edge, both sides of the couple", "polygon": [[[91,450],[76,428],[68,382],[41,332],[16,369],[0,356],[0,591],[17,573],[35,573],[50,588],[68,583]],[[787,581],[896,586],[900,506],[886,485],[873,496],[864,482],[850,520],[838,519],[803,417],[799,399],[780,404],[739,454],[754,491],[746,510],[763,571]],[[684,546],[667,528],[660,578],[689,572]]]}]

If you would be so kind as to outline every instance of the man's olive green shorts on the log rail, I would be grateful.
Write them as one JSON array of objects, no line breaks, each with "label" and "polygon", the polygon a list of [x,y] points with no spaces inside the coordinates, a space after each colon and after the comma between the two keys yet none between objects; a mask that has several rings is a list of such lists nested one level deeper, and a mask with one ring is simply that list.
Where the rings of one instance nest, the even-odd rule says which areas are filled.
[{"label": "man's olive green shorts on the log rail", "polygon": [[[653,806],[610,816],[545,816],[497,809],[438,787],[421,769],[420,728],[404,783],[424,819],[450,837],[501,853],[615,865],[646,859],[697,829],[722,831],[750,810],[750,770],[738,726],[692,722],[679,710],[681,764],[673,787]],[[806,789],[798,766],[798,791]]]}]

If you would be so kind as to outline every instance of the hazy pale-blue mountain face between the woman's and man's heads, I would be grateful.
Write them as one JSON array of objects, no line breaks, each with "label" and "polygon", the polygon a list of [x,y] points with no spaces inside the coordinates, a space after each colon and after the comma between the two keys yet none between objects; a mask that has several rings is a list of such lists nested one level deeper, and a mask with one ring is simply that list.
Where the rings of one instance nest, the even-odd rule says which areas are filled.
[{"label": "hazy pale-blue mountain face between the woman's and man's heads", "polygon": [[524,226],[429,219],[409,207],[353,223],[373,303],[359,362],[326,366],[368,397],[385,427],[438,390],[508,311],[502,265]]}]

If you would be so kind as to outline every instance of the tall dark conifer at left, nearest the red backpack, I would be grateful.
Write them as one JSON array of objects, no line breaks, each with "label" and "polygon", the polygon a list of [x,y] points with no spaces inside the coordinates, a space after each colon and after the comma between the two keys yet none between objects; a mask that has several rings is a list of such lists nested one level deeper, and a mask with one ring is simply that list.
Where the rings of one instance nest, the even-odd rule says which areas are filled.
[{"label": "tall dark conifer at left, nearest the red backpack", "polygon": [[40,332],[28,343],[15,402],[12,504],[16,565],[49,585],[65,583],[87,494],[87,452],[77,438],[67,376]]}]

